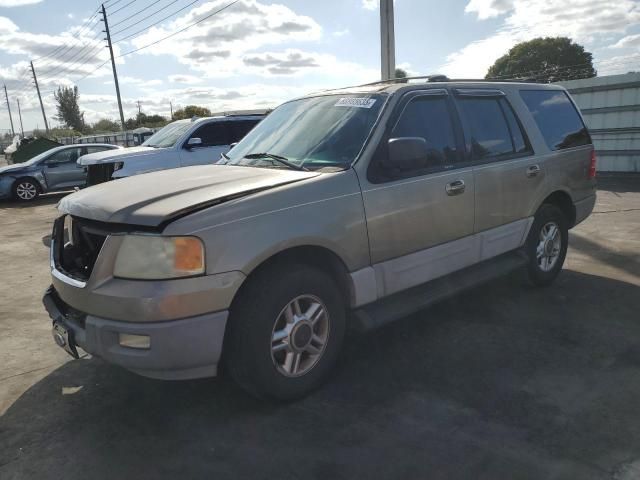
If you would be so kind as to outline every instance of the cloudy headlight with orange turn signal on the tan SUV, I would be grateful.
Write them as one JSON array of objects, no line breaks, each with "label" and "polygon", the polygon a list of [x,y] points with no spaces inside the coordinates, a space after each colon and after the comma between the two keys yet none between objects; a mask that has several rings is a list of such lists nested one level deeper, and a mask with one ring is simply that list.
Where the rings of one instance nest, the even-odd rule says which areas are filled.
[{"label": "cloudy headlight with orange turn signal on the tan SUV", "polygon": [[136,280],[203,275],[204,245],[197,237],[125,235],[113,275]]}]

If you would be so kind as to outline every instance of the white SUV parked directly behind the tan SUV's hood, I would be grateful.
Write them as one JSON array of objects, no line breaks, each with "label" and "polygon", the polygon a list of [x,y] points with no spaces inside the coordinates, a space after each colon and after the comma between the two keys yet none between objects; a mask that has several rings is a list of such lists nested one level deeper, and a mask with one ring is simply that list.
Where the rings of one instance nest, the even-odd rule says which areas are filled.
[{"label": "white SUV parked directly behind the tan SUV's hood", "polygon": [[84,156],[87,185],[168,168],[208,165],[237,143],[264,115],[223,115],[178,120],[157,131],[139,147]]}]

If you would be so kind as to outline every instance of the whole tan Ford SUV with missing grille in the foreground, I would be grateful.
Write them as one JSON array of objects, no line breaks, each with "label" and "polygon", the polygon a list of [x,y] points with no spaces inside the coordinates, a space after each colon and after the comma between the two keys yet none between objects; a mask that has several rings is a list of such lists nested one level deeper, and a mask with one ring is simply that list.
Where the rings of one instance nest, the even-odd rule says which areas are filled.
[{"label": "whole tan Ford SUV with missing grille in the foreground", "polygon": [[553,282],[595,187],[559,86],[316,94],[218,165],[63,199],[44,304],[74,356],[163,379],[224,362],[249,392],[295,398],[327,377],[348,321],[374,328],[515,269]]}]

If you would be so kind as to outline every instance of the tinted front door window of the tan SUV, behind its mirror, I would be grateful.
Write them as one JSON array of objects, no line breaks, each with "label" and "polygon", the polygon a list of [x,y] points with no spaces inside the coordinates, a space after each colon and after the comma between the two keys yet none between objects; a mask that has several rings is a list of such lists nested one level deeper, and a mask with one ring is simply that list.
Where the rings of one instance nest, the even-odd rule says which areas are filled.
[{"label": "tinted front door window of the tan SUV, behind its mirror", "polygon": [[421,137],[429,149],[428,163],[444,167],[457,160],[456,138],[447,100],[442,97],[417,97],[404,108],[392,137]]}]

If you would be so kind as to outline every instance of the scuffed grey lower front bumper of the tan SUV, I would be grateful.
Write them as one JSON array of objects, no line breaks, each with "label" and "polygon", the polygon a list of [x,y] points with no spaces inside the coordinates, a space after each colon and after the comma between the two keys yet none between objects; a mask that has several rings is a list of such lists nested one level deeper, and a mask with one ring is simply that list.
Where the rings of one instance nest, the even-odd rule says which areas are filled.
[{"label": "scuffed grey lower front bumper of the tan SUV", "polygon": [[[53,286],[42,299],[51,319],[72,332],[86,352],[140,375],[163,380],[217,374],[228,312],[220,311],[164,322],[122,322],[78,312]],[[147,349],[124,347],[119,334],[150,337]]]}]

